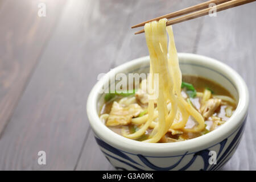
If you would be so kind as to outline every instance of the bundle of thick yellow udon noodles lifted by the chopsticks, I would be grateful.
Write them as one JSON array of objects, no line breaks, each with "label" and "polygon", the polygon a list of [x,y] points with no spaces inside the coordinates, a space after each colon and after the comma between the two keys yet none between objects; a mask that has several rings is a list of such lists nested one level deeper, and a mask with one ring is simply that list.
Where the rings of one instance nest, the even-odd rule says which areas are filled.
[{"label": "bundle of thick yellow udon noodles lifted by the chopsticks", "polygon": [[[166,27],[167,19],[159,22],[146,23],[144,26],[148,52],[150,53],[150,85],[154,93],[158,93],[157,107],[154,109],[154,100],[148,100],[148,114],[133,118],[132,123],[141,125],[133,134],[127,134],[125,127],[122,135],[135,139],[141,137],[148,127],[154,128],[149,137],[143,142],[158,142],[168,131],[176,129],[198,132],[205,129],[204,118],[181,95],[181,71],[174,42],[172,27]],[[167,32],[169,43],[167,46]],[[168,48],[167,48],[168,47]],[[169,57],[167,56],[169,54]],[[154,87],[154,74],[159,74],[159,86]],[[158,92],[156,92],[158,91]],[[191,115],[197,121],[192,129],[186,129],[185,125]],[[154,119],[158,118],[155,122]]]}]

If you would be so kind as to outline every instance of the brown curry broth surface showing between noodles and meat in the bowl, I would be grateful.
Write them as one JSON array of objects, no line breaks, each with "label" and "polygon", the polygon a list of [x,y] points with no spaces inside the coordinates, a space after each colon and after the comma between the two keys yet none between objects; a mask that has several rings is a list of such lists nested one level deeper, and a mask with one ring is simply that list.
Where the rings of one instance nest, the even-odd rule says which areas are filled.
[{"label": "brown curry broth surface showing between noodles and meat in the bowl", "polygon": [[[203,93],[205,89],[210,90],[210,92],[212,92],[212,94],[214,95],[221,95],[221,96],[228,96],[230,98],[232,98],[234,100],[234,97],[228,92],[228,90],[226,90],[223,86],[221,86],[220,84],[217,84],[214,81],[208,80],[206,78],[203,77],[199,77],[199,76],[191,76],[191,75],[183,75],[182,76],[182,80],[184,82],[187,82],[189,84],[192,84],[194,86],[194,88],[196,89],[196,92],[198,93]],[[183,92],[185,92],[185,90],[183,89]],[[129,97],[134,97],[134,96],[129,96]],[[102,114],[109,114],[111,109],[112,109],[112,105],[113,102],[116,101],[118,102],[119,100],[121,100],[123,97],[121,96],[117,96],[115,97],[113,100],[110,100],[108,102],[105,102],[105,104],[102,106],[101,111],[100,111],[100,115]],[[195,98],[190,98],[192,105],[197,109],[200,110],[201,107],[201,97],[195,97]],[[174,140],[164,140],[161,139],[159,141],[159,143],[162,142],[176,142],[177,141],[182,141],[182,140],[188,140],[188,139],[192,139],[192,138],[196,138],[196,137],[200,137],[201,135],[207,134],[208,132],[217,129],[217,127],[219,127],[220,125],[222,125],[223,123],[226,122],[226,120],[228,120],[229,117],[226,116],[226,107],[232,107],[233,111],[236,109],[236,105],[225,101],[223,102],[224,104],[222,104],[220,107],[218,107],[218,109],[216,109],[213,113],[213,115],[211,117],[209,117],[208,119],[205,120],[205,130],[202,132],[196,132],[196,133],[192,133],[192,132],[186,132],[183,130],[176,130],[178,133],[180,132],[180,134],[172,134],[171,132],[167,132],[166,133],[166,138],[171,138]],[[146,109],[147,106],[141,104],[139,101],[137,101],[137,104],[141,105],[141,107],[143,109]],[[214,121],[214,118],[219,118],[220,120],[218,121],[218,124],[216,126],[214,126],[216,124],[216,121]],[[221,123],[221,124],[220,124]],[[193,120],[193,118],[189,117],[188,121],[187,121],[187,125],[196,125],[195,121]],[[220,125],[219,125],[220,124]],[[187,126],[186,125],[186,126]],[[214,126],[214,129],[212,129],[212,127]],[[111,129],[112,131],[114,131],[115,133],[122,135],[121,134],[121,130],[122,130],[122,126],[108,126],[109,129]],[[129,125],[126,125],[126,127],[129,129],[130,133],[134,133],[140,126],[139,125],[134,125],[133,123],[130,123]],[[135,139],[135,140],[144,140],[146,139],[150,133],[151,133],[152,129],[147,129],[146,133],[144,133],[144,135],[142,135],[141,137]]]}]

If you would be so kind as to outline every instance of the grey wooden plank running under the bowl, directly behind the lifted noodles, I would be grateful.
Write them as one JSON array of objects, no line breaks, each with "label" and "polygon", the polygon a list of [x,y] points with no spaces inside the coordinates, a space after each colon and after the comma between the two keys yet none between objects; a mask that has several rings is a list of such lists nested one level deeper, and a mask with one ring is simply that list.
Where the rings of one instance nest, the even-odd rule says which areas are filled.
[{"label": "grey wooden plank running under the bowl, directly behind the lifted noodles", "polygon": [[[129,5],[125,3],[129,3]],[[133,33],[135,31],[130,30],[131,26],[143,20],[154,18],[155,16],[179,10],[187,6],[195,5],[196,3],[198,3],[198,1],[189,1],[186,3],[180,3],[178,0],[160,2],[156,2],[154,0],[118,2],[115,5],[117,8],[119,7],[119,9],[122,9],[121,7],[127,7],[127,9],[125,9],[125,11],[127,11],[126,14],[118,13],[119,19],[125,19],[127,16],[129,19],[121,22],[120,26],[124,27],[122,29],[124,36],[119,35],[118,39],[120,40],[120,43],[118,45],[118,50],[115,52],[117,53],[117,58],[113,62],[112,68],[130,61],[131,59],[148,55],[144,35],[134,35]],[[180,23],[179,26],[174,26],[176,45],[180,52],[193,52],[194,45],[196,43],[197,31],[201,27],[201,20],[202,19],[196,19],[192,20],[188,24]],[[189,41],[184,45],[185,40]],[[102,45],[103,47],[105,47],[104,44],[105,43]],[[92,134],[89,136],[92,136]],[[94,138],[92,139],[92,137],[89,137],[85,142],[85,146],[82,150],[76,169],[109,170],[110,167],[108,164],[108,160],[106,160],[103,154],[101,154]]]}]

